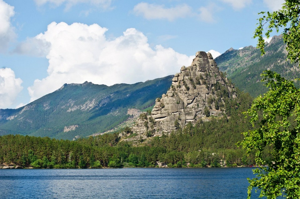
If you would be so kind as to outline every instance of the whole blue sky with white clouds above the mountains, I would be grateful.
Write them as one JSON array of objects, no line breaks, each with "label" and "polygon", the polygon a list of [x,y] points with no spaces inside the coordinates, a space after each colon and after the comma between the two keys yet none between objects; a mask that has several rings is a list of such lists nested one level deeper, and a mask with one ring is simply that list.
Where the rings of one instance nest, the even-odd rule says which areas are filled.
[{"label": "whole blue sky with white clouds above the mountains", "polygon": [[67,83],[172,75],[197,51],[256,46],[258,13],[284,0],[0,0],[0,108]]}]

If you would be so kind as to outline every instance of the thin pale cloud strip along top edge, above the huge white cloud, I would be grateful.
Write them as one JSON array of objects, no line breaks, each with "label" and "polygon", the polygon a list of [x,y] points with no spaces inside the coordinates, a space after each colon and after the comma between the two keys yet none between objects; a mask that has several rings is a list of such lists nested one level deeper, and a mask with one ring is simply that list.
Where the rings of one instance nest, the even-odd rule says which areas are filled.
[{"label": "thin pale cloud strip along top edge, above the huge white cloud", "polygon": [[110,7],[112,0],[34,0],[38,6],[42,6],[46,3],[58,7],[62,4],[66,4],[66,10],[70,9],[72,6],[78,3],[88,3],[96,6],[100,6],[103,9]]}]

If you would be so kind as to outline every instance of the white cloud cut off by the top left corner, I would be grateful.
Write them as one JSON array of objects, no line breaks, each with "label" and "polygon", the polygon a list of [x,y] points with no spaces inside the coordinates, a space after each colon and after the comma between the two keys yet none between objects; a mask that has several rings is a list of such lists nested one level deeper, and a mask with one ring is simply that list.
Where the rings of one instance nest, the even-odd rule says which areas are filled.
[{"label": "white cloud cut off by the top left corner", "polygon": [[0,51],[4,52],[8,44],[14,40],[16,34],[14,27],[10,23],[10,18],[15,15],[14,7],[0,0]]}]

